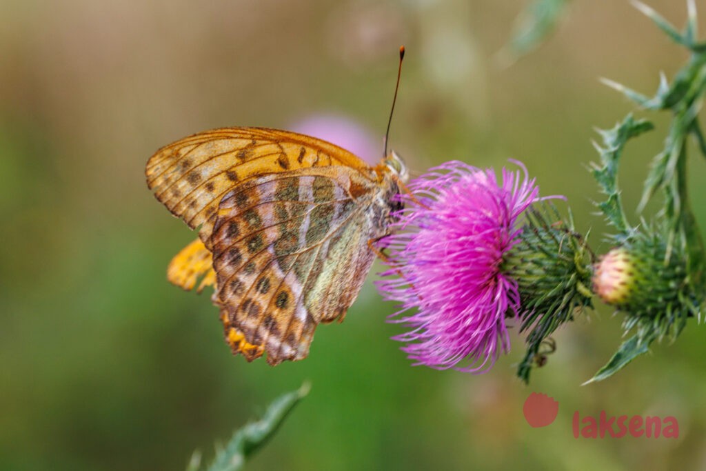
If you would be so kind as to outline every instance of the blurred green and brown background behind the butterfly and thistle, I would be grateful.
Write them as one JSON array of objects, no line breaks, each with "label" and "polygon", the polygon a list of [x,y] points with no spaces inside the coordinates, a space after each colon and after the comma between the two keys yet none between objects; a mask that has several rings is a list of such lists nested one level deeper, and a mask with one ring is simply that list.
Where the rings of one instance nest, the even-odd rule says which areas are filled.
[{"label": "blurred green and brown background behind the butterfly and thistle", "polygon": [[[682,1],[650,4],[677,25],[686,18]],[[382,148],[400,44],[390,142],[414,172],[520,159],[544,195],[568,196],[578,229],[592,228],[605,252],[590,141],[632,106],[597,78],[652,93],[658,72],[687,56],[627,1],[575,0],[537,51],[499,66],[524,6],[1,2],[0,469],[183,470],[195,448],[208,459],[216,439],[305,380],[309,397],[249,470],[706,469],[696,323],[582,387],[621,342],[619,316],[588,313],[556,335],[558,352],[526,387],[516,336],[481,376],[409,366],[389,340],[401,331],[385,323],[394,306],[369,282],[345,323],[318,329],[309,359],[271,368],[232,357],[210,294],[165,280],[195,234],[146,188],[148,157],[217,126],[291,128],[330,113]],[[650,118],[657,131],[628,146],[621,173],[630,214],[668,117]],[[706,168],[691,165],[703,225]],[[558,400],[551,426],[522,417],[532,391]],[[575,410],[673,415],[680,436],[577,440]]]}]

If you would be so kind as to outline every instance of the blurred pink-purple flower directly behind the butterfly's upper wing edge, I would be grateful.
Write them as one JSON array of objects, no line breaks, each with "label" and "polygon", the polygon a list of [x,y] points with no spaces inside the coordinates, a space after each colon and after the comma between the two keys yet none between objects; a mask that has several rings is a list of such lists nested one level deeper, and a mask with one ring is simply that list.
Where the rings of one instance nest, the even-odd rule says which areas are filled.
[{"label": "blurred pink-purple flower directly behind the butterfly's upper wing edge", "polygon": [[312,114],[290,126],[292,131],[323,139],[349,150],[369,165],[383,157],[383,141],[379,145],[358,121],[338,114]]}]

